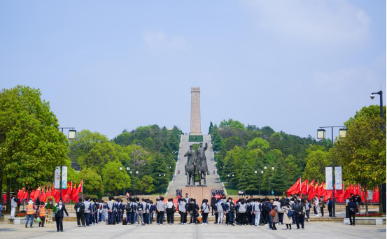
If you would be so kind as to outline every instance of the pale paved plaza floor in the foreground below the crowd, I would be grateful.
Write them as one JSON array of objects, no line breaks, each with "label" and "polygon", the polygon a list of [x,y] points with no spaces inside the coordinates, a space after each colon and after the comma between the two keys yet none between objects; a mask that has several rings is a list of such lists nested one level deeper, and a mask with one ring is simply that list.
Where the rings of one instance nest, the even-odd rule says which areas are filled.
[{"label": "pale paved plaza floor in the foreground below the crowd", "polygon": [[386,238],[386,226],[344,226],[342,223],[309,223],[306,230],[271,231],[267,226],[218,226],[210,224],[187,226],[97,226],[78,228],[73,222],[64,222],[64,232],[56,229],[23,225],[0,224],[0,238]]}]

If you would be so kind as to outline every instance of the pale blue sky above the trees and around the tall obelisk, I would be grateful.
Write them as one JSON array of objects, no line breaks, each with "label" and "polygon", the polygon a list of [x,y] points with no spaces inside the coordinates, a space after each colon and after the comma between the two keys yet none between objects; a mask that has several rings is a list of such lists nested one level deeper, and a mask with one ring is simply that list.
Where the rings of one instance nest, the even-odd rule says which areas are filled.
[{"label": "pale blue sky above the trees and around the tall obelisk", "polygon": [[204,133],[232,118],[315,137],[386,92],[386,1],[1,1],[0,83],[109,138],[189,132],[190,87]]}]

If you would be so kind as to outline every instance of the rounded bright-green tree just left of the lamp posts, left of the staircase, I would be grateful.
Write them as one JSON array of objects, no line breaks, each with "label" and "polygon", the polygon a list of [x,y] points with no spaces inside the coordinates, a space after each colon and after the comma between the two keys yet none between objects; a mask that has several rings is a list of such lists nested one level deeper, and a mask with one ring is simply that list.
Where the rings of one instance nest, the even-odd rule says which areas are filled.
[{"label": "rounded bright-green tree just left of the lamp posts, left of the staircase", "polygon": [[[122,167],[122,171],[120,171],[120,167]],[[102,169],[105,191],[110,192],[112,196],[118,195],[125,187],[124,177],[126,178],[126,187],[129,188],[131,180],[122,164],[118,161],[108,162]]]}]

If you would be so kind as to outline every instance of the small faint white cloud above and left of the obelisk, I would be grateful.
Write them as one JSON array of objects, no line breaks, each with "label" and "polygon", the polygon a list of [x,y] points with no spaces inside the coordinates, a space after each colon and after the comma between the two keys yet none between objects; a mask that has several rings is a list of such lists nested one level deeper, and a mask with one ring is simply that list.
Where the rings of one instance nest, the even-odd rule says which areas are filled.
[{"label": "small faint white cloud above and left of the obelisk", "polygon": [[169,48],[184,49],[187,46],[187,40],[184,36],[167,36],[164,31],[148,30],[142,33],[143,40],[151,48]]}]

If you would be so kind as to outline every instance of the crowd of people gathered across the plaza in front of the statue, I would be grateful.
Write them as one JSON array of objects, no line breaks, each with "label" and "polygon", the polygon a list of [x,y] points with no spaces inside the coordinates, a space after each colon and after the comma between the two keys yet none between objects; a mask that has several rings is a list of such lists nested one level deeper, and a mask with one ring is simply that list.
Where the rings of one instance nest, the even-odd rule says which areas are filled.
[{"label": "crowd of people gathered across the plaza in front of the statue", "polygon": [[[330,217],[332,217],[332,200],[328,199],[325,203],[323,198],[318,198],[316,195],[310,202],[307,198],[300,198],[298,195],[290,195],[283,198],[253,198],[253,196],[241,198],[234,201],[233,198],[227,196],[219,196],[222,191],[213,189],[211,201],[203,199],[199,205],[195,198],[190,198],[185,194],[185,198],[181,197],[181,191],[178,191],[177,207],[172,198],[164,202],[164,197],[160,196],[156,202],[148,199],[127,196],[127,202],[120,198],[109,197],[108,201],[102,201],[97,198],[86,197],[74,205],[76,211],[78,227],[94,226],[105,223],[106,225],[137,225],[146,226],[150,224],[174,225],[174,215],[176,212],[180,215],[180,225],[187,224],[209,224],[209,215],[215,217],[215,224],[227,226],[269,226],[269,229],[277,230],[276,226],[286,225],[287,230],[291,230],[292,226],[297,226],[297,229],[305,229],[304,222],[310,220],[311,210],[314,210],[315,216],[324,217],[325,206],[328,205]],[[217,195],[218,194],[218,195]],[[360,198],[361,199],[361,198]],[[347,208],[349,209],[349,217],[351,225],[355,226],[355,217],[358,214],[361,201],[358,197],[351,194],[347,198]],[[15,215],[15,205],[17,198],[15,195],[11,198],[11,217]],[[55,221],[57,223],[57,231],[63,231],[62,219],[64,214],[69,215],[63,201],[57,204],[58,212],[55,213]],[[32,227],[34,217],[38,217],[38,226],[45,226],[45,217],[47,209],[45,203],[34,205],[33,201],[29,201],[27,205],[27,222]],[[188,223],[188,215],[190,222]],[[200,215],[202,217],[200,217]]]}]

